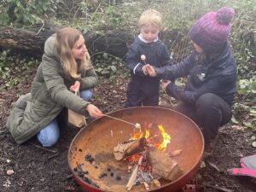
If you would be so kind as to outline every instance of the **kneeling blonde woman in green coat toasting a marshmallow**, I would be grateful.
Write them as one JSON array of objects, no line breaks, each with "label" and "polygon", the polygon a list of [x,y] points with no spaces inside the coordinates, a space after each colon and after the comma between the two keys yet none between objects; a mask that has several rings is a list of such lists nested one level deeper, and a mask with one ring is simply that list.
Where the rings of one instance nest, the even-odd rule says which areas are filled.
[{"label": "kneeling blonde woman in green coat toasting a marshmallow", "polygon": [[[71,91],[75,83],[80,84],[81,97]],[[96,73],[82,33],[63,28],[49,37],[31,93],[20,96],[7,121],[15,142],[24,143],[37,136],[44,147],[53,146],[60,137],[56,116],[62,108],[102,117],[102,111],[90,103],[90,89],[96,84]]]}]

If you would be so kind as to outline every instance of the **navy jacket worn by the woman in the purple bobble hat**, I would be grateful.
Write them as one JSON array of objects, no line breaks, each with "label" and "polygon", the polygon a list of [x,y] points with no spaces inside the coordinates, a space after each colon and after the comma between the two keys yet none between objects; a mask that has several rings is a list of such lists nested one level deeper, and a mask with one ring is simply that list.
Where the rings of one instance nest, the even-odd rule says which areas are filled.
[{"label": "navy jacket worn by the woman in the purple bobble hat", "polygon": [[197,55],[193,52],[184,61],[172,67],[155,70],[161,79],[177,79],[189,75],[184,89],[172,83],[166,87],[166,92],[180,101],[195,104],[201,95],[213,93],[230,106],[234,103],[236,61],[228,43],[214,61],[198,65]]}]

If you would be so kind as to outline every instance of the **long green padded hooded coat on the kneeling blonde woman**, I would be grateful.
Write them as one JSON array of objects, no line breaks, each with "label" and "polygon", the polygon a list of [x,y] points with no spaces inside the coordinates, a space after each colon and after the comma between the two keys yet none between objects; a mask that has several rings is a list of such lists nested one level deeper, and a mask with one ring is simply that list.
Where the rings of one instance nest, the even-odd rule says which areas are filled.
[{"label": "long green padded hooded coat on the kneeling blonde woman", "polygon": [[[85,114],[90,102],[76,96],[69,90],[76,79],[63,73],[61,59],[55,49],[55,34],[44,44],[44,55],[32,82],[31,93],[20,96],[11,109],[7,128],[20,144],[35,136],[66,107],[74,112]],[[94,68],[83,69],[80,90],[88,90],[97,84]]]}]

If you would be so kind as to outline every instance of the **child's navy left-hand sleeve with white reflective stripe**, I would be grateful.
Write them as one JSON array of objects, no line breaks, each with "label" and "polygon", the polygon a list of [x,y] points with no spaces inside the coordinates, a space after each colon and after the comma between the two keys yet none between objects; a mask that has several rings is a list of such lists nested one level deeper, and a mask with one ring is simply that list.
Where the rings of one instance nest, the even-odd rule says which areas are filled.
[{"label": "child's navy left-hand sleeve with white reflective stripe", "polygon": [[126,66],[131,70],[133,74],[137,74],[140,76],[145,76],[143,73],[143,65],[140,58],[141,55],[138,55],[138,47],[137,44],[131,44],[128,53],[126,55]]}]

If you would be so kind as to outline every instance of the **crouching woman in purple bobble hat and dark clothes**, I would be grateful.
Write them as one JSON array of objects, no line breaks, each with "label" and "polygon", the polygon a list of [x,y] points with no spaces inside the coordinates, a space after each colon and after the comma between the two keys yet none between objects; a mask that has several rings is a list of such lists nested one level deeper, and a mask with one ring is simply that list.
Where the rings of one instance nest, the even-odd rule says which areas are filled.
[{"label": "crouching woman in purple bobble hat and dark clothes", "polygon": [[[218,127],[227,124],[236,93],[236,61],[228,38],[234,9],[221,8],[203,15],[189,31],[195,51],[176,65],[147,67],[148,75],[158,76],[167,94],[179,102],[174,108],[201,127],[206,143],[218,134]],[[174,79],[188,76],[185,88]],[[171,81],[172,80],[172,81]]]}]

